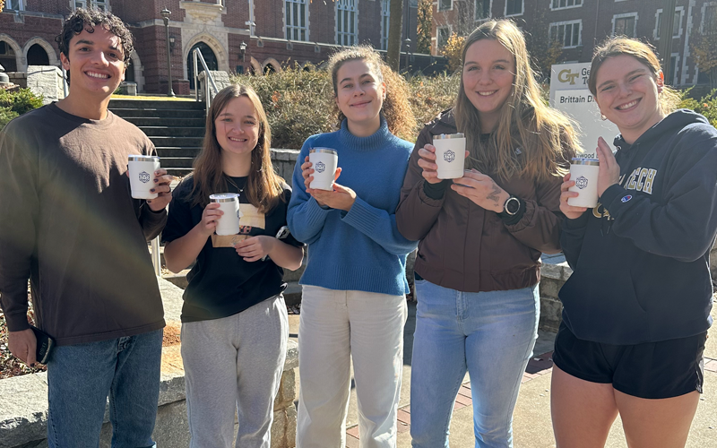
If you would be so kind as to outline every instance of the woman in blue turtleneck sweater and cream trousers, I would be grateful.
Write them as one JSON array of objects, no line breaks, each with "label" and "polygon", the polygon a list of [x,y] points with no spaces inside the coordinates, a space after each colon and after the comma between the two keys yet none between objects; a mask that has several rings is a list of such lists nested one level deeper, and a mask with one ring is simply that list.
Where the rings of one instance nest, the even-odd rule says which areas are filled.
[{"label": "woman in blue turtleneck sweater and cream trousers", "polygon": [[[417,243],[395,210],[413,144],[405,82],[371,47],[331,57],[341,128],[312,135],[294,169],[287,220],[308,245],[298,331],[298,448],[345,445],[350,358],[362,447],[396,445],[401,392],[406,255]],[[338,153],[333,191],[311,189],[312,148]]]}]

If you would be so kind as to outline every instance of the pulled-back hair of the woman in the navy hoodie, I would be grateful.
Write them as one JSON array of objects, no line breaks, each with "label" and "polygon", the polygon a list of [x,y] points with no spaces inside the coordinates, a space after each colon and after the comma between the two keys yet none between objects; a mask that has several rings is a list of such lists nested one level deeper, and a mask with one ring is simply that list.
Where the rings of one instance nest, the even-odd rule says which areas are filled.
[{"label": "pulled-back hair of the woman in the navy hoodie", "polygon": [[[592,64],[590,65],[590,77],[588,78],[588,89],[593,97],[598,95],[598,70],[600,65],[607,61],[610,57],[615,56],[633,56],[638,62],[647,66],[652,71],[655,80],[660,76],[661,66],[660,59],[657,58],[652,47],[637,39],[626,38],[625,36],[615,36],[604,40],[600,47],[595,49],[592,56]],[[678,108],[680,98],[677,91],[670,89],[667,85],[662,86],[662,91],[658,97],[658,104],[663,114],[669,115]]]}]

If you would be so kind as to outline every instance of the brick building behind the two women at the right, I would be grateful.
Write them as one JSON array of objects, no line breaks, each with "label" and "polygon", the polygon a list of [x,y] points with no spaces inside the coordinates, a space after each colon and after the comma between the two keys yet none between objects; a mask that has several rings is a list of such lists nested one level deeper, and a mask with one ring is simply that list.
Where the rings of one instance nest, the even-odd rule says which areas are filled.
[{"label": "brick building behind the two women at the right", "polygon": [[[435,0],[432,53],[456,32],[467,35],[489,18],[513,19],[526,34],[557,39],[558,62],[590,62],[596,44],[613,34],[647,39],[659,45],[662,0]],[[669,84],[708,82],[690,56],[694,30],[717,32],[717,0],[677,0],[673,17]]]}]

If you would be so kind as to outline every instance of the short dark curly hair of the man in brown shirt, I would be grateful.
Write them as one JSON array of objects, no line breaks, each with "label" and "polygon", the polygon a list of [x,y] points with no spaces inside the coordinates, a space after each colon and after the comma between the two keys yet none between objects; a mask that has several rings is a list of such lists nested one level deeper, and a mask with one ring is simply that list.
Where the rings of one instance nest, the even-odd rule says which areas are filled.
[{"label": "short dark curly hair of the man in brown shirt", "polygon": [[[60,53],[70,58],[70,40],[85,30],[94,32],[96,26],[102,26],[122,41],[122,53],[125,58],[125,67],[129,65],[130,55],[134,51],[134,39],[132,33],[127,29],[122,19],[99,9],[77,8],[67,18],[62,27],[62,32],[55,38]],[[70,72],[67,72],[67,82],[70,82]]]}]

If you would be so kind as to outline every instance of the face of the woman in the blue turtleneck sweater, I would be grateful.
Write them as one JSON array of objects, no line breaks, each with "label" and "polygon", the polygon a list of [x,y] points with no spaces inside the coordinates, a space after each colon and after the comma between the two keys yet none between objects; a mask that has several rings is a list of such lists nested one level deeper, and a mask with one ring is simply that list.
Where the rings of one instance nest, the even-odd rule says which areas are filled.
[{"label": "face of the woman in the blue turtleneck sweater", "polygon": [[349,125],[376,127],[384,105],[385,83],[371,65],[357,59],[341,65],[336,76],[336,104],[349,120]]}]

